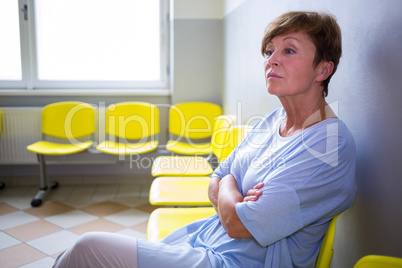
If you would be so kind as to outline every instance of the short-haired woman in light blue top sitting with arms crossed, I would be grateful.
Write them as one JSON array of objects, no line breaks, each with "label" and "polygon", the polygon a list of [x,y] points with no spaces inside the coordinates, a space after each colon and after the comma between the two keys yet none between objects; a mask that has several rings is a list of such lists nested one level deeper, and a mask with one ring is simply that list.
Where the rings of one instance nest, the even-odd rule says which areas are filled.
[{"label": "short-haired woman in light blue top sitting with arms crossed", "polygon": [[262,42],[265,116],[212,175],[217,214],[152,243],[84,235],[55,267],[314,267],[330,220],[353,202],[355,146],[327,105],[341,56],[331,15],[290,12]]}]

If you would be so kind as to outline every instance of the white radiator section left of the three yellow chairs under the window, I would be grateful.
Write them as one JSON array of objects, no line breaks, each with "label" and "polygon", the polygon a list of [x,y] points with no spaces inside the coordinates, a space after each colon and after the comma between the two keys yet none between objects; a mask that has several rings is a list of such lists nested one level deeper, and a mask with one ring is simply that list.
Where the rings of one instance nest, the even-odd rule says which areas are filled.
[{"label": "white radiator section left of the three yellow chairs under the window", "polygon": [[26,147],[41,139],[41,107],[0,108],[0,164],[38,163]]}]

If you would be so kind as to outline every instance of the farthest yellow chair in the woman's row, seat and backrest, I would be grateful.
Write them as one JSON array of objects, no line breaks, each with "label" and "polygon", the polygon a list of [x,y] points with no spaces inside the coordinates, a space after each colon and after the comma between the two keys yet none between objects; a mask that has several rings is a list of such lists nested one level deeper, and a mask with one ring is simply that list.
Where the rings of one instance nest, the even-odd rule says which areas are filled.
[{"label": "farthest yellow chair in the woman's row, seat and backrest", "polygon": [[[221,115],[216,118],[211,148],[219,159],[223,151],[227,128],[235,117]],[[212,154],[212,151],[211,151]],[[213,172],[207,158],[202,156],[159,156],[152,163],[152,176],[208,176]]]}]

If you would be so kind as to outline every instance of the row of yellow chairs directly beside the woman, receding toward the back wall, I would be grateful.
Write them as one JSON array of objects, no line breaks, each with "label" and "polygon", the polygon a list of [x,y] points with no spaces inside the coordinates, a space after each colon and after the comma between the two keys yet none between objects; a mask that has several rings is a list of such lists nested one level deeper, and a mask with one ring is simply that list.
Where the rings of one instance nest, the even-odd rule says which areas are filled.
[{"label": "row of yellow chairs directly beside the woman, receding toward the back wall", "polygon": [[[229,156],[249,131],[248,126],[233,126],[234,120],[235,117],[229,115],[220,116],[215,121],[211,142],[213,155],[218,162]],[[165,163],[163,167],[162,163]],[[206,166],[208,169],[205,169]],[[150,203],[176,207],[158,208],[151,213],[147,228],[148,240],[160,240],[190,222],[216,213],[208,198],[208,175],[211,173],[212,168],[205,158],[160,156],[155,159],[152,174],[160,177],[155,178],[151,185]]]}]

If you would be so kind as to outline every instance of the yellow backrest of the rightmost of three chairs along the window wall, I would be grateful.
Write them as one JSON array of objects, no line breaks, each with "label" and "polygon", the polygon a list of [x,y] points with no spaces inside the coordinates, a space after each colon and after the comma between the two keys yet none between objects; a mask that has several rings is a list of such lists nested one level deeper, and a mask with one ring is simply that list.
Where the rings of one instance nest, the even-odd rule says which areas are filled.
[{"label": "yellow backrest of the rightmost of three chairs along the window wall", "polygon": [[214,120],[222,115],[219,105],[208,102],[185,102],[169,110],[169,133],[189,139],[212,136]]}]

